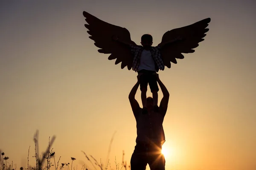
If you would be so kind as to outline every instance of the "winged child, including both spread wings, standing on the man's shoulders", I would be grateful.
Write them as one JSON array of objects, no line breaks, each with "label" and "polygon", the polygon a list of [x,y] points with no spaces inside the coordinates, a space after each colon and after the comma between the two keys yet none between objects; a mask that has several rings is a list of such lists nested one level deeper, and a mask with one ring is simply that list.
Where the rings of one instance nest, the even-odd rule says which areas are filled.
[{"label": "winged child, including both spread wings, standing on the man's shoulders", "polygon": [[[141,45],[136,45],[131,40],[130,32],[126,28],[115,26],[97,17],[83,12],[88,24],[84,26],[89,30],[90,39],[94,40],[94,45],[101,48],[98,51],[104,54],[111,54],[108,59],[116,59],[115,64],[121,62],[121,68],[127,66],[128,70],[138,72],[141,75],[140,90],[143,103],[143,113],[146,109],[147,86],[152,92],[154,99],[154,110],[158,110],[158,85],[156,74],[159,70],[164,70],[165,66],[171,68],[171,62],[177,63],[176,59],[183,59],[182,53],[193,53],[199,42],[204,41],[210,18],[193,23],[189,26],[175,28],[163,34],[162,41],[156,47],[152,47],[153,38],[149,34],[141,37]],[[181,38],[182,37],[182,38]],[[120,43],[121,42],[121,43]],[[130,46],[130,48],[129,48]]]}]

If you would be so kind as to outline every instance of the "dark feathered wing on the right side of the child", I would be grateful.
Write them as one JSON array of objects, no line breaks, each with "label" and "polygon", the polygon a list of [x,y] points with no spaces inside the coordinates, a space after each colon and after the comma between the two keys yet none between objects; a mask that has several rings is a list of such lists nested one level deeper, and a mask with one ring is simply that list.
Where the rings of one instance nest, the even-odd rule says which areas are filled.
[{"label": "dark feathered wing on the right side of the child", "polygon": [[[164,44],[176,37],[182,37],[184,40],[174,42],[166,45],[160,50],[163,63],[166,67],[171,68],[171,62],[177,64],[176,59],[183,59],[184,56],[181,53],[193,53],[193,48],[198,47],[198,43],[204,41],[206,32],[209,31],[208,23],[211,21],[210,18],[198,21],[192,25],[172,29],[163,34],[162,41],[160,44]],[[159,45],[160,45],[159,44]]]}]

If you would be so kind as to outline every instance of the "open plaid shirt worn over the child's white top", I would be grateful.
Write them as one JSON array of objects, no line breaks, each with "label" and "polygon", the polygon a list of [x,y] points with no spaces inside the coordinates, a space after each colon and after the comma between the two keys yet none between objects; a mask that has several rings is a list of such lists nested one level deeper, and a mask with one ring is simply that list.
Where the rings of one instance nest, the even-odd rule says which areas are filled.
[{"label": "open plaid shirt worn over the child's white top", "polygon": [[[133,63],[132,63],[132,70],[137,72],[137,70],[139,68],[139,64],[140,64],[140,56],[143,51],[143,46],[131,44],[130,47],[131,47],[131,53],[134,56]],[[160,53],[160,46],[150,47],[150,52],[152,54],[152,57],[155,61],[156,66],[157,66],[157,71],[159,69],[163,70],[164,64],[163,64],[163,59],[162,59],[161,53]]]}]

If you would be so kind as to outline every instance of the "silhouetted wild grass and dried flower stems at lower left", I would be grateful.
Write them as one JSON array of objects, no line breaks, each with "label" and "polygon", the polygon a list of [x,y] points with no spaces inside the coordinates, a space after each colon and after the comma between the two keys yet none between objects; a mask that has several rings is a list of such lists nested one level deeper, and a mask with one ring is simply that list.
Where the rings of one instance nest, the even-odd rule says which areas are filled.
[{"label": "silhouetted wild grass and dried flower stems at lower left", "polygon": [[[53,148],[51,148],[53,142],[55,140],[55,136],[52,136],[52,138],[49,137],[49,142],[48,142],[48,147],[47,150],[43,153],[43,155],[38,155],[39,152],[39,148],[38,148],[38,130],[36,131],[35,135],[34,135],[34,142],[35,142],[35,156],[32,156],[35,159],[35,165],[30,165],[29,164],[29,152],[31,152],[30,150],[30,146],[29,146],[29,150],[28,150],[28,157],[27,157],[27,167],[20,167],[19,170],[77,170],[77,165],[76,165],[76,169],[75,167],[73,167],[73,161],[76,160],[76,158],[74,157],[70,157],[71,158],[71,167],[70,167],[70,163],[60,163],[61,160],[61,156],[58,158],[57,161],[57,165],[56,165],[56,160],[55,160],[55,152],[53,152]],[[113,137],[111,139],[111,142],[113,141]],[[111,144],[110,144],[111,147]],[[110,151],[110,148],[109,148]],[[115,159],[115,168],[111,167],[111,164],[109,162],[108,159],[108,164],[106,165],[106,167],[103,167],[102,165],[102,161],[100,159],[100,162],[98,162],[93,156],[87,156],[87,154],[82,151],[84,153],[84,156],[86,157],[87,161],[90,162],[90,164],[92,164],[93,166],[93,170],[127,170],[127,169],[131,169],[130,166],[127,166],[127,162],[124,161],[124,155],[125,153],[123,152],[123,156],[122,156],[122,164],[121,167],[119,167],[119,164],[116,163],[116,159]],[[0,150],[0,170],[17,170],[17,165],[12,163],[9,163],[7,160],[9,159],[8,156],[6,156],[6,154],[4,152],[2,152]],[[31,154],[31,153],[30,153]],[[109,153],[108,153],[109,155]],[[53,161],[52,161],[53,160]],[[54,169],[53,169],[54,168]],[[81,170],[90,170],[87,168],[87,166],[84,164],[81,167]]]}]

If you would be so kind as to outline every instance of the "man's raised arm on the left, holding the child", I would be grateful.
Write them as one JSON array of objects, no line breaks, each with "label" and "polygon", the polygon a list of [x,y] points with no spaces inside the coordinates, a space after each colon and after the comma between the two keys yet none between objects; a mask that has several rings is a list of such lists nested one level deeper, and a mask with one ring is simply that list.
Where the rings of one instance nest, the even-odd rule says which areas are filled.
[{"label": "man's raised arm on the left, holding the child", "polygon": [[138,110],[140,109],[140,105],[139,105],[139,103],[137,102],[137,100],[135,99],[135,94],[136,94],[136,92],[137,92],[137,90],[138,90],[138,88],[139,88],[139,85],[140,85],[140,81],[139,81],[140,75],[141,75],[141,74],[139,74],[139,75],[137,76],[137,82],[136,82],[136,84],[134,85],[134,87],[131,89],[131,92],[130,92],[130,94],[129,94],[129,101],[130,101],[131,108],[132,108],[132,111],[133,111],[135,117],[137,116],[137,115],[135,115],[135,113],[137,113]]}]

